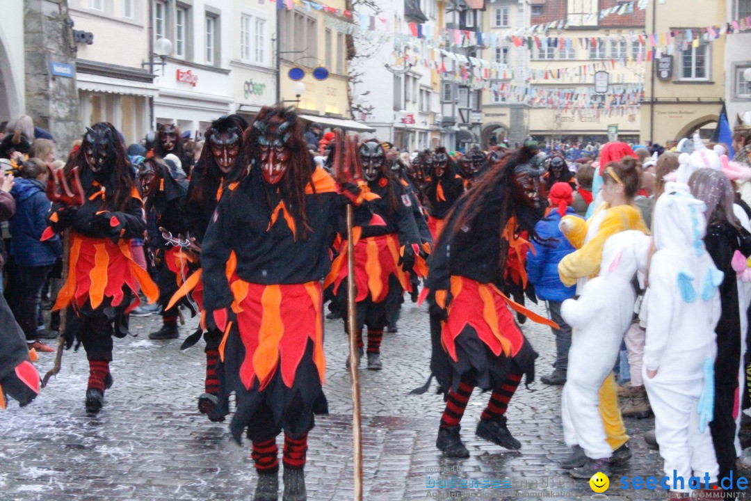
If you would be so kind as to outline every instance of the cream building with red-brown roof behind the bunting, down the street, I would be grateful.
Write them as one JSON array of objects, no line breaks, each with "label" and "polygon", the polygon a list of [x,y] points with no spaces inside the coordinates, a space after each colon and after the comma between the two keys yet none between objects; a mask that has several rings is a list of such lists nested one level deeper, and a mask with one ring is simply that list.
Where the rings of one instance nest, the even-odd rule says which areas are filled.
[{"label": "cream building with red-brown roof behind the bunting, down the street", "polygon": [[[628,2],[626,2],[628,3]],[[486,29],[500,35],[486,58],[507,68],[484,98],[482,141],[511,146],[532,136],[544,143],[605,142],[608,129],[637,142],[638,96],[644,85],[645,11],[606,16],[614,0],[494,0]],[[529,26],[541,26],[529,32]],[[514,40],[512,37],[516,37]],[[514,43],[515,42],[515,43]],[[602,94],[595,73],[605,72]],[[602,83],[602,80],[601,80]],[[508,90],[506,90],[508,89]],[[631,106],[618,102],[631,95]]]}]

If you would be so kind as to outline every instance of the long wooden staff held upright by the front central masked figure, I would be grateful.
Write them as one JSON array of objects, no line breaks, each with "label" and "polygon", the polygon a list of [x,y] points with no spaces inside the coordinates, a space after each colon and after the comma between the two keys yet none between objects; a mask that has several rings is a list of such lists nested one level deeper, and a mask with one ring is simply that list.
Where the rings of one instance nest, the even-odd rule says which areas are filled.
[{"label": "long wooden staff held upright by the front central masked figure", "polygon": [[354,242],[352,222],[354,208],[347,205],[347,324],[349,327],[349,376],[352,392],[352,469],[354,470],[354,501],[363,499],[363,436],[360,426],[360,357],[357,356],[357,304],[354,302]]}]

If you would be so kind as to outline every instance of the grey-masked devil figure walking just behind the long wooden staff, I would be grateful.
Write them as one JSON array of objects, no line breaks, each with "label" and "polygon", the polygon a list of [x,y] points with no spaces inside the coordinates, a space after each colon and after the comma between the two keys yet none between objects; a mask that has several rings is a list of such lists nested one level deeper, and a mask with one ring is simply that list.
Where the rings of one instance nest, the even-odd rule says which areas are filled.
[{"label": "grey-masked devil figure walking just behind the long wooden staff", "polygon": [[[368,329],[367,358],[369,370],[381,370],[381,341],[388,320],[394,321],[404,291],[411,292],[410,273],[420,254],[421,239],[412,216],[412,199],[399,180],[391,174],[386,152],[377,140],[360,146],[363,177],[370,192],[379,199],[366,207],[355,208],[361,224],[360,238],[354,244],[354,281],[357,284],[357,325],[355,326],[358,356],[363,355],[363,327]],[[364,213],[372,210],[368,219]],[[333,262],[324,287],[333,284],[333,293],[340,303],[347,303],[345,265],[347,246]],[[345,320],[346,324],[346,320]],[[349,361],[348,361],[349,364]]]}]

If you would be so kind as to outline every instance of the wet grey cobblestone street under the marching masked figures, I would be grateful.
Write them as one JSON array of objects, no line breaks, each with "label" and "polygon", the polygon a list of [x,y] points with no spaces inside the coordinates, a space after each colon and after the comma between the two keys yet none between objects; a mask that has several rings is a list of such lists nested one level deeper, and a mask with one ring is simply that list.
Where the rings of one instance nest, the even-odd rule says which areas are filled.
[{"label": "wet grey cobblestone street under the marching masked figures", "polygon": [[[155,315],[132,318],[138,336],[116,340],[111,364],[115,385],[95,417],[83,408],[88,376],[83,349],[65,353],[61,372],[32,405],[20,409],[11,403],[0,414],[2,499],[252,499],[255,470],[249,443],[238,447],[226,423],[210,423],[196,408],[196,397],[203,391],[202,343],[180,352],[182,340],[149,341],[147,334],[158,328],[159,321]],[[182,339],[194,323],[181,327]],[[523,444],[520,451],[507,451],[474,436],[489,395],[473,394],[462,430],[471,457],[443,458],[435,447],[442,397],[432,391],[408,395],[427,379],[427,309],[406,303],[399,327],[398,333],[385,334],[384,370],[360,372],[365,499],[442,499],[449,491],[457,493],[454,499],[528,499],[531,493],[590,499],[589,484],[574,483],[557,466],[568,454],[562,441],[561,387],[535,382],[534,391],[527,391],[521,385],[511,400],[509,428]],[[549,373],[554,352],[550,329],[528,321],[523,330],[541,354],[538,376]],[[352,489],[347,344],[341,321],[327,320],[326,333],[331,414],[318,418],[310,433],[306,482],[309,499],[338,501],[351,499]],[[52,361],[53,355],[41,357],[41,374]],[[651,419],[626,420],[633,457],[627,466],[614,469],[611,488],[605,493],[610,499],[660,492],[617,487],[621,475],[662,475],[659,454],[647,449],[641,438],[651,425]],[[510,478],[511,488],[427,487],[427,476],[431,481],[451,481],[454,475],[491,481]],[[535,481],[548,487],[529,488]]]}]

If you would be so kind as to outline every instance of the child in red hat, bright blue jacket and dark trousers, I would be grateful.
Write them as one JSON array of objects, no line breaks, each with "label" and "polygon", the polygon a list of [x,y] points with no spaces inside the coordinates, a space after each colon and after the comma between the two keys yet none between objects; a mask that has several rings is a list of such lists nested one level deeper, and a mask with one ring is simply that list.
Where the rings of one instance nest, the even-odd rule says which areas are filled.
[{"label": "child in red hat, bright blue jacket and dark trousers", "polygon": [[571,207],[573,195],[569,183],[553,184],[548,201],[553,210],[535,225],[538,240],[532,240],[535,243],[535,252],[527,254],[526,273],[529,282],[535,285],[537,297],[547,301],[550,319],[559,325],[559,329],[553,328],[553,335],[556,337],[556,361],[553,364],[555,370],[549,376],[542,376],[541,380],[546,385],[563,385],[566,383],[566,371],[569,370],[571,327],[561,317],[561,303],[574,297],[576,287],[562,284],[558,275],[558,264],[575,249],[563,236],[558,225],[566,214],[578,216]]}]

